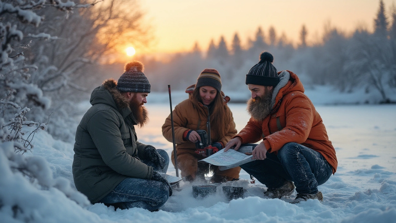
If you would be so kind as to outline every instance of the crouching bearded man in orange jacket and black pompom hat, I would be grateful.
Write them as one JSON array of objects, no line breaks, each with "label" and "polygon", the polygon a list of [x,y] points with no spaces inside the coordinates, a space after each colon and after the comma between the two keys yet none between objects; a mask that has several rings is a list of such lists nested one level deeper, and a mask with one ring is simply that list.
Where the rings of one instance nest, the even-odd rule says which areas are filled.
[{"label": "crouching bearded man in orange jacket and black pompom hat", "polygon": [[289,196],[295,185],[293,204],[307,199],[322,201],[318,185],[337,170],[334,147],[297,75],[277,72],[273,60],[272,54],[263,52],[246,75],[251,118],[226,144],[225,151],[262,139],[252,153],[255,161],[241,167],[268,187],[264,194],[270,198]]}]

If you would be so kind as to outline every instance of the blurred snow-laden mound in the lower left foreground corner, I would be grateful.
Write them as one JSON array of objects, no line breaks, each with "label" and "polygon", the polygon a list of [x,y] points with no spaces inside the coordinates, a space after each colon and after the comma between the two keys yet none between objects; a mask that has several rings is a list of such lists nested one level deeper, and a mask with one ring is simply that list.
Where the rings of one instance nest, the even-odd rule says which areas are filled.
[{"label": "blurred snow-laden mound in the lower left foreground corner", "polygon": [[70,222],[84,219],[81,206],[90,203],[64,177],[53,178],[48,162],[40,156],[15,154],[12,142],[0,144],[0,219],[2,222]]}]

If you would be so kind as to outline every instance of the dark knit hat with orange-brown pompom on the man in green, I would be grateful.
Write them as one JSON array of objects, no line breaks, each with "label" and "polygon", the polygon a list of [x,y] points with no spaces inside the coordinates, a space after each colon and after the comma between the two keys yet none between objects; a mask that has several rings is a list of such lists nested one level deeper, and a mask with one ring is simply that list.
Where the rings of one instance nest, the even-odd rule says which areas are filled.
[{"label": "dark knit hat with orange-brown pompom on the man in green", "polygon": [[143,73],[145,67],[139,61],[132,61],[125,65],[124,73],[118,79],[117,90],[120,92],[150,93],[150,82]]}]

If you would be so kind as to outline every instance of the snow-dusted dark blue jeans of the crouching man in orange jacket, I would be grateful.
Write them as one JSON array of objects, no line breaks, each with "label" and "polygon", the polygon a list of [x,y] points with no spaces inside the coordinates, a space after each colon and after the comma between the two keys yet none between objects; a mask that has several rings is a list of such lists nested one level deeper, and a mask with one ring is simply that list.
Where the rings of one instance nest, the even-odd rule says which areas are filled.
[{"label": "snow-dusted dark blue jeans of the crouching man in orange jacket", "polygon": [[268,188],[279,188],[285,181],[293,181],[297,193],[316,194],[333,173],[326,159],[319,153],[295,142],[286,143],[278,154],[268,153],[265,160],[241,165],[250,175]]}]

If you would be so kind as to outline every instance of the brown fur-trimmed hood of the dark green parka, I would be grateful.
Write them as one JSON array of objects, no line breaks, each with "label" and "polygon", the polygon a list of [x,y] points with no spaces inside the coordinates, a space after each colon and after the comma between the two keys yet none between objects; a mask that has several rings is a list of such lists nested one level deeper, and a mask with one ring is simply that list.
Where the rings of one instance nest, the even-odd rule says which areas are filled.
[{"label": "brown fur-trimmed hood of the dark green parka", "polygon": [[114,109],[118,110],[125,118],[131,114],[129,102],[124,98],[121,93],[116,89],[117,82],[114,79],[107,79],[103,81],[103,85],[95,88],[92,91],[91,99],[89,102],[94,104],[108,104]]}]

